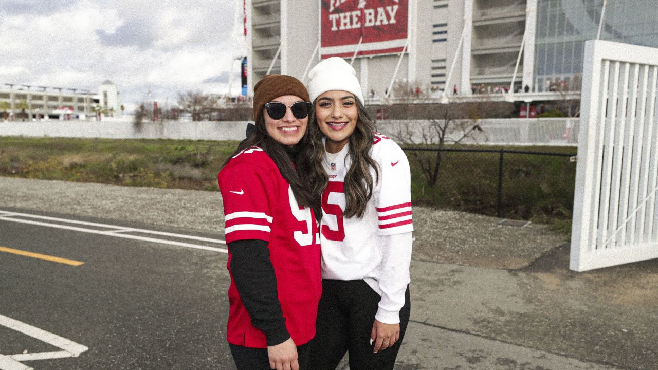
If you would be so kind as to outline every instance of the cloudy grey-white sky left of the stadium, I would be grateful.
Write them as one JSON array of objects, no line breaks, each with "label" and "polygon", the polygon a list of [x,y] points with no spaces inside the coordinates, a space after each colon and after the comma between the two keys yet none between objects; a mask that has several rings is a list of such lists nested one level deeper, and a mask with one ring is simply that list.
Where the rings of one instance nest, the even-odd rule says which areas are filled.
[{"label": "cloudy grey-white sky left of the stadium", "polygon": [[[236,0],[0,0],[0,84],[151,96],[226,92]],[[234,63],[233,93],[240,87]],[[7,88],[7,86],[2,86]],[[33,88],[34,90],[34,88]]]}]

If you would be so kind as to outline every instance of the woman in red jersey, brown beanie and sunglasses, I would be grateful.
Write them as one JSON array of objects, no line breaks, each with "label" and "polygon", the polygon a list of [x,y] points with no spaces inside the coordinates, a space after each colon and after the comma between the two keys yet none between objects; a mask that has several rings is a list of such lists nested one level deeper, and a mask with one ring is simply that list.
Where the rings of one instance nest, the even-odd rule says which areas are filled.
[{"label": "woman in red jersey, brown beanie and sunglasses", "polygon": [[[306,369],[320,299],[319,198],[297,172],[309,95],[267,75],[254,87],[255,130],[218,174],[231,284],[227,339],[238,369]],[[295,163],[297,167],[295,168]]]}]

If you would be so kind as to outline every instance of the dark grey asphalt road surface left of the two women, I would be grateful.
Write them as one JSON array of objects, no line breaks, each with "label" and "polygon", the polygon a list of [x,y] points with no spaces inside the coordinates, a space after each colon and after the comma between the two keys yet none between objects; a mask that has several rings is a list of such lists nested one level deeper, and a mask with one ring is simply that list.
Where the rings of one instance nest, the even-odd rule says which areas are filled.
[{"label": "dark grey asphalt road surface left of the two women", "polygon": [[[0,252],[0,315],[89,348],[79,357],[20,363],[36,370],[234,369],[225,339],[226,253],[11,221],[0,221],[0,247],[84,262]],[[0,325],[0,354],[53,351]]]}]

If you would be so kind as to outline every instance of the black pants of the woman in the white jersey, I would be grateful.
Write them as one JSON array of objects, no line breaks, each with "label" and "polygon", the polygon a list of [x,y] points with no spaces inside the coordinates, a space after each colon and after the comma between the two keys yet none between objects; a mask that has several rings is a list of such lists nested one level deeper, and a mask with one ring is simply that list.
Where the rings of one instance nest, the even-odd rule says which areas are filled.
[{"label": "black pants of the woman in the white jersey", "polygon": [[315,338],[311,340],[309,369],[334,370],[349,354],[350,370],[393,369],[409,323],[409,286],[400,311],[400,338],[392,347],[372,353],[370,332],[381,296],[363,280],[322,280]]}]

